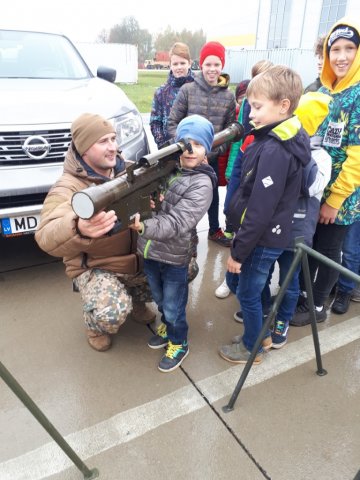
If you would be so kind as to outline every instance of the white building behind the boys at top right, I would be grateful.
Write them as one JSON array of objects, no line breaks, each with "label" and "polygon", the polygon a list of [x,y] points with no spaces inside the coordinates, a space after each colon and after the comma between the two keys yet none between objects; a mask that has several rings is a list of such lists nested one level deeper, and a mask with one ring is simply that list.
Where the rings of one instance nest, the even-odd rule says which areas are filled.
[{"label": "white building behind the boys at top right", "polygon": [[360,19],[359,0],[257,0],[251,15],[242,16],[241,35],[216,38],[227,49],[225,71],[237,83],[250,78],[254,63],[268,59],[296,70],[306,86],[317,76],[316,39],[344,16]]}]

